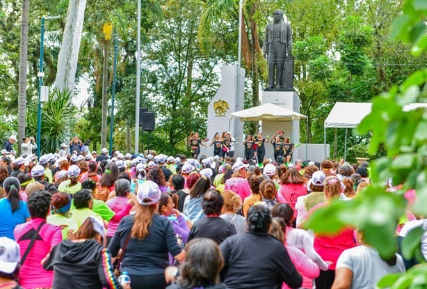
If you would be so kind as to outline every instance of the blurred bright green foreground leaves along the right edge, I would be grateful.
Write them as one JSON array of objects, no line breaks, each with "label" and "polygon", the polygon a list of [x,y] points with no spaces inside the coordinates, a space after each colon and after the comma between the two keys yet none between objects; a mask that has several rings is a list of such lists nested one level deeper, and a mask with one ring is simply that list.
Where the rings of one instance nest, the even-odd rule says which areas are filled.
[{"label": "blurred bright green foreground leaves along the right edge", "polygon": [[[394,19],[391,39],[412,45],[412,54],[421,55],[426,49],[427,25],[425,1],[408,0],[403,13]],[[427,208],[427,114],[425,107],[412,107],[412,103],[427,102],[427,70],[413,72],[403,84],[394,85],[388,92],[373,98],[371,114],[357,127],[357,132],[372,132],[369,153],[384,147],[387,155],[372,163],[374,182],[353,201],[336,201],[328,208],[318,210],[307,223],[315,231],[337,231],[343,226],[357,226],[364,231],[367,244],[376,247],[381,256],[389,257],[396,250],[394,231],[396,220],[408,203],[404,194],[410,189],[417,193],[412,205],[416,214],[426,216]],[[385,180],[392,178],[401,184],[396,192],[385,192]],[[325,224],[333,224],[326,226]],[[403,240],[406,258],[417,256],[423,230],[412,231]],[[381,288],[426,288],[427,265],[413,267],[405,274],[393,274],[379,283]]]}]

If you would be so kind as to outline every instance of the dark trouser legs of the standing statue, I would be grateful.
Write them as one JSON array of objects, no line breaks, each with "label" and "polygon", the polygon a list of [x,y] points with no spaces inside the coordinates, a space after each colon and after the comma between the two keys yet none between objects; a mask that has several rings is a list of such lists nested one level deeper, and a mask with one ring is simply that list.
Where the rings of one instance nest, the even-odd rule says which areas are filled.
[{"label": "dark trouser legs of the standing statue", "polygon": [[268,86],[283,87],[283,67],[286,58],[286,44],[273,42],[268,45]]}]

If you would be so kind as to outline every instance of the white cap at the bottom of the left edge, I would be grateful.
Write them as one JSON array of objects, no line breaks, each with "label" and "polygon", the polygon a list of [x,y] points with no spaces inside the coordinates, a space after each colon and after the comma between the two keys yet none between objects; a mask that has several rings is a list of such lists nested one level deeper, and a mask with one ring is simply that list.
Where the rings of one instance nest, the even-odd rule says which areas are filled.
[{"label": "white cap at the bottom of the left edge", "polygon": [[8,237],[0,237],[0,272],[12,274],[20,260],[17,242]]}]

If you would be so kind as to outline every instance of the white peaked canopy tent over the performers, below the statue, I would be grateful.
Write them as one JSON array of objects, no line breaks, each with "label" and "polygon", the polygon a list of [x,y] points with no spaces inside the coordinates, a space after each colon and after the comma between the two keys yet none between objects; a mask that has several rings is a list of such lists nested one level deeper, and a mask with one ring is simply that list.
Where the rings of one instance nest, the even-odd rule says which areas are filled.
[{"label": "white peaked canopy tent over the performers, below the statue", "polygon": [[[250,109],[243,109],[231,114],[231,118],[239,118],[241,121],[293,121],[306,119],[307,116],[299,114],[298,112],[291,111],[276,104],[266,103],[258,107],[251,107]],[[307,125],[306,125],[307,127]],[[308,136],[308,127],[307,127]],[[307,157],[307,146],[305,149]]]}]

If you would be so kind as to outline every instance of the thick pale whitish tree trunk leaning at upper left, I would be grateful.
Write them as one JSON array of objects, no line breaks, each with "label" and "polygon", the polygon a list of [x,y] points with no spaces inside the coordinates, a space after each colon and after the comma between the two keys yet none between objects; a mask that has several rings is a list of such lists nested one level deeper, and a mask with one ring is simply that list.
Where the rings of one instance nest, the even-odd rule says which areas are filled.
[{"label": "thick pale whitish tree trunk leaning at upper left", "polygon": [[59,51],[55,80],[56,87],[60,91],[73,91],[74,89],[85,9],[86,0],[68,2],[67,21]]}]

